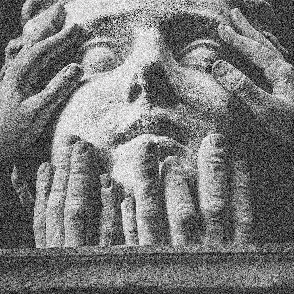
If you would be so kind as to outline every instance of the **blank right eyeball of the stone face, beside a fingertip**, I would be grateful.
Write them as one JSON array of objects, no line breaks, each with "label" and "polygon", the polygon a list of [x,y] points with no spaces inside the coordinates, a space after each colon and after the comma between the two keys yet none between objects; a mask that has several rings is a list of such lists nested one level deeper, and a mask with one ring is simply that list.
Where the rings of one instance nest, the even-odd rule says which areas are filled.
[{"label": "blank right eyeball of the stone face, beside a fingertip", "polygon": [[197,44],[183,49],[176,61],[186,69],[211,72],[212,65],[219,59],[218,48],[211,44]]}]

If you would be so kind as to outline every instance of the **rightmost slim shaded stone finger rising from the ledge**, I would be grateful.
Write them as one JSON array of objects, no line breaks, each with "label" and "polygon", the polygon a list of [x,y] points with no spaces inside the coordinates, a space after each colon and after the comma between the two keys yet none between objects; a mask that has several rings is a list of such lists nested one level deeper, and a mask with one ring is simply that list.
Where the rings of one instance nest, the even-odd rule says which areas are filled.
[{"label": "rightmost slim shaded stone finger rising from the ledge", "polygon": [[236,161],[233,166],[232,217],[233,243],[251,243],[253,217],[250,203],[250,176],[246,161]]}]

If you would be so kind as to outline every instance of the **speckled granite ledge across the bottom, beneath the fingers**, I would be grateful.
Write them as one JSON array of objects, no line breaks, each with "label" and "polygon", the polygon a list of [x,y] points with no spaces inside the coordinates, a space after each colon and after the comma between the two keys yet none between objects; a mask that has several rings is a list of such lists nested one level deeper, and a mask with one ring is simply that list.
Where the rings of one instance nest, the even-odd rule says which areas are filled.
[{"label": "speckled granite ledge across the bottom, beneath the fingers", "polygon": [[0,250],[0,291],[294,292],[294,244]]}]

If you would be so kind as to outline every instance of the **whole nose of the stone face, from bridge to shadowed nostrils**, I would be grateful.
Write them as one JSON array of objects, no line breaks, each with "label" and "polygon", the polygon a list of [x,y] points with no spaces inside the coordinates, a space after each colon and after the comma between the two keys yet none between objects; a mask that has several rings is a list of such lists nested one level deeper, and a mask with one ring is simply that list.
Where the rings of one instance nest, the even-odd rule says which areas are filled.
[{"label": "whole nose of the stone face, from bridge to shadowed nostrils", "polygon": [[170,64],[169,54],[157,29],[138,31],[131,59],[131,76],[127,91],[129,102],[140,97],[145,104],[171,104],[177,101],[178,92],[167,68]]}]

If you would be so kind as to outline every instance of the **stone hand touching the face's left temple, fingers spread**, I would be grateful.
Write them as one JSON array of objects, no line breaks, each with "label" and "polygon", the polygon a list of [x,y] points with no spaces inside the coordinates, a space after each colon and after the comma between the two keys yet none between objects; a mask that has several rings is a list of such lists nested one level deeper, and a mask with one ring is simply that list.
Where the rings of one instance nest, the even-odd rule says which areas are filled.
[{"label": "stone hand touching the face's left temple, fingers spread", "polygon": [[[83,76],[78,64],[62,69],[43,91],[33,94],[32,86],[51,59],[71,45],[77,35],[74,24],[61,31],[66,11],[55,5],[6,48],[6,64],[0,82],[0,158],[22,151],[43,131],[54,108],[75,88]],[[26,26],[33,22],[29,21]]]}]

